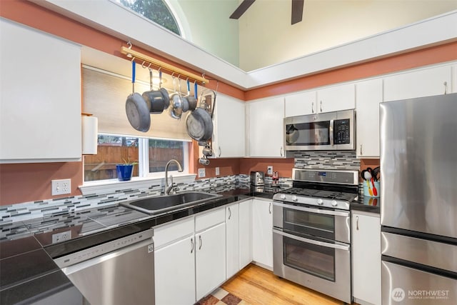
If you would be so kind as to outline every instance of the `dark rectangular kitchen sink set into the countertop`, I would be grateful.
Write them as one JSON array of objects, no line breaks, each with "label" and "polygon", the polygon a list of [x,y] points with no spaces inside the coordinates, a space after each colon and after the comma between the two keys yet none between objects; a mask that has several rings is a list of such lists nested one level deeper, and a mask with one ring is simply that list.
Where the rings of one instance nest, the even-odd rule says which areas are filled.
[{"label": "dark rectangular kitchen sink set into the countertop", "polygon": [[221,197],[218,194],[209,194],[202,191],[187,191],[179,194],[154,196],[132,201],[121,202],[121,206],[126,206],[149,215],[161,214],[166,211],[173,211],[184,206],[203,203],[206,200]]}]

